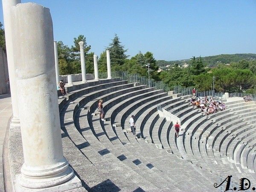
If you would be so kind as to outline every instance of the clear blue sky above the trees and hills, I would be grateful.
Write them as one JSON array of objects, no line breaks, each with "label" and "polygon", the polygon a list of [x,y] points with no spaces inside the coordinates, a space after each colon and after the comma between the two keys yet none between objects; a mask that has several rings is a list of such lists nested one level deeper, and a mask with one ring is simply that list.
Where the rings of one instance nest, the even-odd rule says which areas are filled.
[{"label": "clear blue sky above the trees and hills", "polygon": [[[22,0],[22,3],[29,0]],[[256,0],[33,0],[50,9],[55,41],[84,35],[96,55],[116,33],[127,54],[157,60],[256,53]],[[0,22],[3,23],[2,2]]]}]

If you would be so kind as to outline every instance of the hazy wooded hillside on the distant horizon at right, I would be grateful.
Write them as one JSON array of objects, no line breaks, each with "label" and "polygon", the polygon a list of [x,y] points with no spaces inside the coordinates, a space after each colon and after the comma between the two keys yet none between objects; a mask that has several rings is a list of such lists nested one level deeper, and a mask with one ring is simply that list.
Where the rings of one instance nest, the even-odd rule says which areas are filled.
[{"label": "hazy wooded hillside on the distant horizon at right", "polygon": [[[256,60],[256,54],[253,53],[238,53],[238,54],[222,54],[222,55],[213,55],[202,57],[202,61],[204,64],[207,64],[209,67],[213,67],[219,63],[230,64],[231,62],[238,62],[240,60]],[[177,61],[164,61],[158,60],[157,64],[159,67],[166,67],[166,65],[174,65],[174,64],[189,64],[190,59],[183,59]]]}]

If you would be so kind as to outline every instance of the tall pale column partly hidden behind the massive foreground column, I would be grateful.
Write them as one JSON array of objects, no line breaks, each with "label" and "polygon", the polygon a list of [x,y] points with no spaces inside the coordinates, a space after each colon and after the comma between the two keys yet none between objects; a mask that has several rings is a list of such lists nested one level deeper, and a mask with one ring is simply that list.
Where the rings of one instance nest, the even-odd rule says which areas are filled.
[{"label": "tall pale column partly hidden behind the massive foreground column", "polygon": [[[18,106],[18,89],[17,81],[15,78],[15,63],[13,59],[13,40],[12,40],[12,18],[11,18],[11,8],[12,6],[20,3],[20,0],[2,0],[3,3],[3,20],[4,20],[4,30],[6,39],[6,51],[7,51],[7,62],[9,71],[9,82],[10,90],[12,95],[12,122],[10,128],[20,128],[20,115]],[[20,87],[20,86],[19,86]]]}]

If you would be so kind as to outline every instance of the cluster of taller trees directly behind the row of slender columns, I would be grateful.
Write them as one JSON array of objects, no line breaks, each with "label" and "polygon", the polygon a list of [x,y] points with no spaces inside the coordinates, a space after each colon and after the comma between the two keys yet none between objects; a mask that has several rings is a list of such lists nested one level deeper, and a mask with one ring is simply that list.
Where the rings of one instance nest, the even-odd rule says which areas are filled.
[{"label": "cluster of taller trees directly behind the row of slender columns", "polygon": [[[77,38],[74,38],[74,42],[71,47],[64,45],[62,41],[57,42],[59,71],[61,75],[81,73],[79,41],[84,41],[86,73],[93,73],[94,52],[89,52],[91,46],[87,45],[84,35],[79,35]],[[127,49],[125,49],[125,46],[121,44],[120,39],[116,34],[113,39],[111,39],[108,47],[106,47],[99,56],[99,73],[107,72],[106,49],[109,49],[110,51],[112,71],[127,71],[131,74],[139,73],[141,76],[147,76],[147,67],[145,65],[149,63],[151,78],[160,81],[159,74],[157,73],[159,68],[156,64],[153,53],[145,52],[145,54],[143,54],[142,52],[139,52],[137,55],[134,55],[129,59],[129,55],[126,55]]]}]

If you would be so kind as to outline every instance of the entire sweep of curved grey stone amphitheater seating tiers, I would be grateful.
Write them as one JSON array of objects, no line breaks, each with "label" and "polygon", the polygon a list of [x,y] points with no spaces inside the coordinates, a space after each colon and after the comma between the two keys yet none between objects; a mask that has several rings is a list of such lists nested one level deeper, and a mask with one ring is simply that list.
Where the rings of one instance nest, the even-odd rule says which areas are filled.
[{"label": "entire sweep of curved grey stone amphitheater seating tiers", "polygon": [[[242,177],[255,183],[255,102],[223,100],[225,111],[205,116],[189,106],[190,98],[120,79],[68,87],[58,99],[63,151],[84,191],[212,192],[228,175],[232,186]],[[96,111],[99,99],[105,121]],[[180,137],[175,122],[158,113],[159,104],[180,118]]]}]

